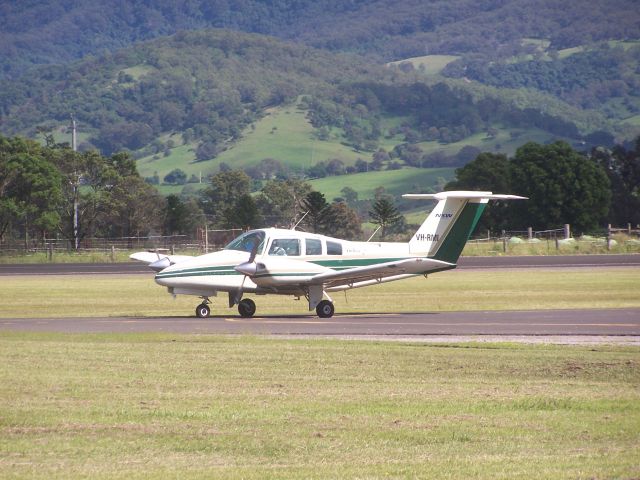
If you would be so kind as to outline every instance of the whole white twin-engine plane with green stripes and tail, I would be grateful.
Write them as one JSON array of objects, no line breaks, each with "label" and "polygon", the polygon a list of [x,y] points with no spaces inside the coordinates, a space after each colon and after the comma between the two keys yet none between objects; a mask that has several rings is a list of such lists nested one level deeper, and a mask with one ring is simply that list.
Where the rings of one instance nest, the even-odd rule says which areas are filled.
[{"label": "whole white twin-engine plane with green stripes and tail", "polygon": [[229,307],[252,317],[256,304],[245,293],[305,297],[319,317],[334,314],[330,292],[366,287],[456,267],[489,200],[524,199],[491,192],[407,194],[437,200],[408,243],[352,242],[297,230],[250,230],[223,250],[198,257],[138,252],[134,260],[157,272],[156,283],[172,295],[202,298],[196,315],[211,313],[209,298],[227,292]]}]

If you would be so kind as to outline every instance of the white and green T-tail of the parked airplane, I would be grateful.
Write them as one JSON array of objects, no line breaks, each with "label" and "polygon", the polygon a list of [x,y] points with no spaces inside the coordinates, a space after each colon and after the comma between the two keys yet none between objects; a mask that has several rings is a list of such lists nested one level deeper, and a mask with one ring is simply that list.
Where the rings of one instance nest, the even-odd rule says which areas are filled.
[{"label": "white and green T-tail of the parked airplane", "polygon": [[521,200],[526,197],[491,192],[440,192],[406,194],[406,198],[438,200],[427,219],[409,241],[411,255],[457,263],[489,200]]}]

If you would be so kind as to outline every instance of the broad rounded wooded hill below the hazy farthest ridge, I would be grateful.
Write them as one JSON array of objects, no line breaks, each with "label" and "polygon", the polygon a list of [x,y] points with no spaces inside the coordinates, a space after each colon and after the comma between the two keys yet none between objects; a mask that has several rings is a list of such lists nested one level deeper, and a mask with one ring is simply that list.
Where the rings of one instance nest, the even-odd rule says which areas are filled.
[{"label": "broad rounded wooded hill below the hazy farthest ridge", "polygon": [[[0,131],[34,137],[67,125],[73,114],[82,125],[81,149],[110,155],[180,133],[196,160],[208,160],[236,144],[267,108],[301,96],[319,139],[340,132],[342,143],[367,156],[383,137],[395,139],[388,148],[448,144],[499,124],[573,140],[589,133],[572,118],[497,97],[474,99],[415,72],[229,30],[180,32],[1,81]],[[397,154],[407,164],[425,165],[416,152]]]}]

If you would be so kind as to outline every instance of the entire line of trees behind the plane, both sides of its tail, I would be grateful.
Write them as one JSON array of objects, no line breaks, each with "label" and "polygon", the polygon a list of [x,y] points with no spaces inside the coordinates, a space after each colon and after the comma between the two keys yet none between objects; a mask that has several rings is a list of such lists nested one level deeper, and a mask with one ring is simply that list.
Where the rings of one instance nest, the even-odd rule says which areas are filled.
[{"label": "entire line of trees behind the plane, both sides of its tail", "polygon": [[[481,228],[544,230],[570,223],[580,233],[606,223],[640,223],[640,137],[631,149],[599,148],[588,156],[564,142],[528,143],[512,159],[481,153],[456,177],[447,190],[529,197],[492,205]],[[193,235],[205,223],[241,229],[299,224],[307,231],[361,239],[368,216],[396,235],[413,228],[382,187],[376,201],[365,204],[348,187],[342,198],[328,202],[302,180],[271,179],[260,185],[256,191],[245,172],[224,168],[198,198],[164,198],[140,178],[126,153],[104,157],[73,152],[67,145],[0,137],[0,242],[62,237],[73,244],[94,236]],[[415,207],[410,201],[402,206]]]}]

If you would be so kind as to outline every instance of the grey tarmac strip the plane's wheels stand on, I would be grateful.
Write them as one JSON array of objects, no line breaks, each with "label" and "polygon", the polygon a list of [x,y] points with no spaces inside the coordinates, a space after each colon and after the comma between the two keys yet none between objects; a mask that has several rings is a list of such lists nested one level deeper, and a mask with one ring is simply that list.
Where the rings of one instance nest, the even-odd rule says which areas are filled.
[{"label": "grey tarmac strip the plane's wheels stand on", "polygon": [[124,317],[0,319],[0,330],[408,337],[428,335],[640,335],[640,309],[352,314],[333,318]]}]

